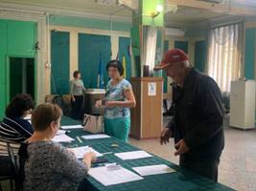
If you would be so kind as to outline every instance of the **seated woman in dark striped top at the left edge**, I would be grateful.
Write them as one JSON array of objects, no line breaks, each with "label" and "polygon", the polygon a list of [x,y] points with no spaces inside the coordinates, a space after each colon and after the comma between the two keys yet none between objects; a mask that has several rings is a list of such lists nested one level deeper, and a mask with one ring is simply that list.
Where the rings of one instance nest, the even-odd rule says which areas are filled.
[{"label": "seated woman in dark striped top at the left edge", "polygon": [[23,118],[31,113],[33,108],[34,101],[27,94],[14,96],[6,108],[6,117],[0,124],[0,176],[11,176],[13,173],[7,143],[11,143],[13,152],[16,154],[20,143],[30,138],[34,132],[31,123]]}]

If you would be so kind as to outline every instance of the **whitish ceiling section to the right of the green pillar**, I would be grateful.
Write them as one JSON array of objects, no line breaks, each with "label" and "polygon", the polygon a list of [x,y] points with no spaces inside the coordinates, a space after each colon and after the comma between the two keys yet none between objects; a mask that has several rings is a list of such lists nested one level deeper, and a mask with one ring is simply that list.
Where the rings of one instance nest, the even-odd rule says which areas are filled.
[{"label": "whitish ceiling section to the right of the green pillar", "polygon": [[[169,11],[165,14],[165,27],[197,28],[211,21],[256,16],[256,0],[219,0],[219,4],[210,1],[217,0],[166,0]],[[172,11],[175,3],[177,10]]]}]

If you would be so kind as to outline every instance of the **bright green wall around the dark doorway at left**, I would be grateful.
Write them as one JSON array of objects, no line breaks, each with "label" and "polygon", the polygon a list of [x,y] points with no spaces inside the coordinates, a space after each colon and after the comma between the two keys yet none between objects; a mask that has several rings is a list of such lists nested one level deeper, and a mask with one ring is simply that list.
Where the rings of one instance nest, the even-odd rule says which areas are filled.
[{"label": "bright green wall around the dark doorway at left", "polygon": [[10,102],[9,57],[35,57],[35,41],[36,23],[0,19],[0,118]]}]

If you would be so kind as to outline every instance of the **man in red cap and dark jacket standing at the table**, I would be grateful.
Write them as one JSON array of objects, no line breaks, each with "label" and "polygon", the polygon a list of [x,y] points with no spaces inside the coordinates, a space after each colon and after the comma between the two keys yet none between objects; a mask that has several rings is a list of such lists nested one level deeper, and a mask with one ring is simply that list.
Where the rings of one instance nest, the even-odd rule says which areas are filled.
[{"label": "man in red cap and dark jacket standing at the table", "polygon": [[154,68],[175,81],[175,116],[162,131],[160,142],[175,138],[179,165],[217,181],[224,146],[221,91],[214,79],[194,69],[188,59],[182,50],[172,49]]}]

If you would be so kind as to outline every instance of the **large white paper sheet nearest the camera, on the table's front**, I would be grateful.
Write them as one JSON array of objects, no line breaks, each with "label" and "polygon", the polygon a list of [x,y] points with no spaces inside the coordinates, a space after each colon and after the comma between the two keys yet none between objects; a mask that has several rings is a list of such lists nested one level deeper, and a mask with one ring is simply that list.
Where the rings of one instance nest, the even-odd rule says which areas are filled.
[{"label": "large white paper sheet nearest the camera, on the table's front", "polygon": [[105,186],[144,179],[121,166],[119,166],[118,168],[114,168],[113,166],[91,168],[88,171],[88,174]]}]

